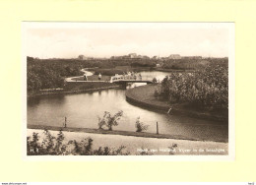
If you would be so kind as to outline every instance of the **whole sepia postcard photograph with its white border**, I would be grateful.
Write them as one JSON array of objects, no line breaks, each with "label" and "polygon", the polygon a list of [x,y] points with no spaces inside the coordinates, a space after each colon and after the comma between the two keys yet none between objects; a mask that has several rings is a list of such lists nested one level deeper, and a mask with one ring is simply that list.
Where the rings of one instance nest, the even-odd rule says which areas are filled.
[{"label": "whole sepia postcard photograph with its white border", "polygon": [[24,22],[26,155],[233,155],[233,26]]}]

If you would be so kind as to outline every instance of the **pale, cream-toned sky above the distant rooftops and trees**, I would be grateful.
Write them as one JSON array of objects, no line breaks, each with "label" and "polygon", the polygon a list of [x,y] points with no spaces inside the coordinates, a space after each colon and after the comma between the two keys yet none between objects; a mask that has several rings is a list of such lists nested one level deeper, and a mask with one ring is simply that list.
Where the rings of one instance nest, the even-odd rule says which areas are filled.
[{"label": "pale, cream-toned sky above the distant rooftops and trees", "polygon": [[26,27],[26,54],[38,58],[111,57],[137,53],[153,57],[228,56],[224,24],[80,23]]}]

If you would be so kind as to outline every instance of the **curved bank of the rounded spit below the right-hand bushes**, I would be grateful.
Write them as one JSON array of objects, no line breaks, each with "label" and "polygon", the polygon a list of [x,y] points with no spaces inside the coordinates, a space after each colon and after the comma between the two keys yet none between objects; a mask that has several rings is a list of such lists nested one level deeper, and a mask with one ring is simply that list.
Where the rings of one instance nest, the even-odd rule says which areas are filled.
[{"label": "curved bank of the rounded spit below the right-hand bushes", "polygon": [[[164,111],[168,113],[182,114],[182,115],[201,118],[201,119],[228,122],[228,117],[214,115],[209,112],[188,110],[182,107],[182,104],[170,105],[165,101],[160,101],[159,99],[154,97],[154,91],[158,88],[157,86],[146,85],[146,86],[141,86],[141,87],[127,90],[125,92],[126,100],[134,105],[149,108],[154,111]],[[138,95],[138,94],[141,94],[141,95]],[[148,97],[148,99],[143,99],[143,97]]]}]

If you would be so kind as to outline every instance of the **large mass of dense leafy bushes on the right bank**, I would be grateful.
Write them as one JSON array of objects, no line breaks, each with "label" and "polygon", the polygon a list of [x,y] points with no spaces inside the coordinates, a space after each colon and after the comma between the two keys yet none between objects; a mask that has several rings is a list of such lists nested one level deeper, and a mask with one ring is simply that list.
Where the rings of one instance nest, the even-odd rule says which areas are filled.
[{"label": "large mass of dense leafy bushes on the right bank", "polygon": [[160,93],[170,102],[191,102],[210,109],[227,109],[227,62],[212,62],[195,73],[172,73],[161,82]]}]

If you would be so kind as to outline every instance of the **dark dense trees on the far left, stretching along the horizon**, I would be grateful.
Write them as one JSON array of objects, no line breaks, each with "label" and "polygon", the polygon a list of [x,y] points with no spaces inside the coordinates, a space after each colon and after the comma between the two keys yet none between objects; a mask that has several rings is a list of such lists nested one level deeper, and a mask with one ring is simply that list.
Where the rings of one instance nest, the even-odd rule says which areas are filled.
[{"label": "dark dense trees on the far left, stretching along the horizon", "polygon": [[[107,73],[104,69],[113,69],[116,66],[131,66],[132,63],[143,66],[153,66],[156,61],[147,64],[145,60],[107,59],[107,60],[79,60],[79,59],[35,59],[27,57],[27,85],[28,92],[43,89],[63,88],[64,79],[83,75],[83,68],[98,68],[99,72]],[[156,65],[156,64],[155,64]],[[100,71],[100,69],[102,69]],[[108,70],[109,71],[109,70]],[[121,71],[118,71],[121,73]],[[114,72],[116,74],[117,72]],[[112,75],[109,72],[108,75]]]}]

